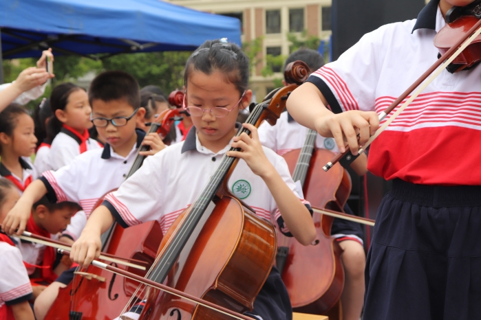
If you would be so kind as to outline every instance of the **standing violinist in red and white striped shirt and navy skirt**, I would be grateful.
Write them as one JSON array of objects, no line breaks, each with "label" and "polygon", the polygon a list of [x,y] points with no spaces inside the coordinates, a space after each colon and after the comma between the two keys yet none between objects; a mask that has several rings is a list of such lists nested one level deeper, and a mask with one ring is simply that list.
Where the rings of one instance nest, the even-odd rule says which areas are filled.
[{"label": "standing violinist in red and white striped shirt and navy skirt", "polygon": [[[288,100],[297,122],[353,155],[378,115],[438,59],[433,40],[453,5],[431,0],[418,19],[366,34]],[[442,71],[372,144],[367,168],[392,179],[365,271],[365,319],[476,319],[481,306],[481,67]],[[326,105],[344,111],[334,115]],[[356,134],[359,133],[359,142]],[[478,138],[476,138],[478,137]]]}]

